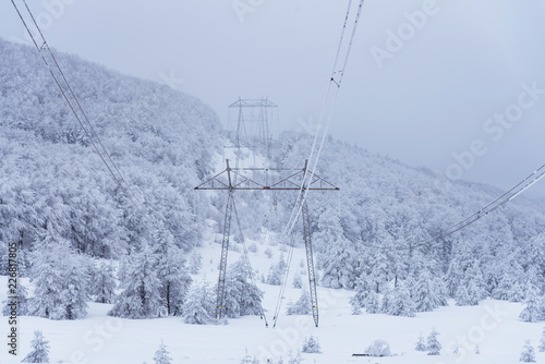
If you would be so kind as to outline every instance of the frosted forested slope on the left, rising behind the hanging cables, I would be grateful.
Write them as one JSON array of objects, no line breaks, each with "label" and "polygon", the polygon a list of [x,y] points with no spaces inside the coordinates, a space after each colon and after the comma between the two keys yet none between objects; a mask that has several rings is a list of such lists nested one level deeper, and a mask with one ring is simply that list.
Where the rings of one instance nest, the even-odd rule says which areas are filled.
[{"label": "frosted forested slope on the left, rising behind the hanging cables", "polygon": [[77,252],[119,257],[149,223],[160,222],[178,246],[198,243],[189,191],[211,171],[220,145],[210,108],[58,52],[106,149],[144,203],[141,214],[89,145],[36,50],[0,39],[0,54],[2,242],[31,247],[49,225]]}]

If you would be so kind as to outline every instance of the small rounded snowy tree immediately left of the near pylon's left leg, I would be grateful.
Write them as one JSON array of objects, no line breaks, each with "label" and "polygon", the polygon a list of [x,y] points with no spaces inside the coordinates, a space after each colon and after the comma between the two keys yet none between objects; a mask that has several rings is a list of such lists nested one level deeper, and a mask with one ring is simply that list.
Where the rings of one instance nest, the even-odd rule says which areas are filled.
[{"label": "small rounded snowy tree immediately left of the near pylon's left leg", "polygon": [[216,294],[207,281],[193,282],[183,308],[186,324],[206,325],[216,315]]}]

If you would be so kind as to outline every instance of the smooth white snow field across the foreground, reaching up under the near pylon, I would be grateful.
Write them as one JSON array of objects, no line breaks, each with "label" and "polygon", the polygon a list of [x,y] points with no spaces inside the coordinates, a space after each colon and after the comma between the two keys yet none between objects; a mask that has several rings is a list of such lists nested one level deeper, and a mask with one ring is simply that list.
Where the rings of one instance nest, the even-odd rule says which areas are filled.
[{"label": "smooth white snow field across the foreground, reaching up under the near pylon", "polygon": [[[251,253],[254,269],[266,274],[270,264],[278,260],[280,252],[267,258],[265,245]],[[194,279],[206,279],[213,284],[217,279],[219,244],[209,243],[201,248],[203,268]],[[299,262],[304,251],[294,251],[292,269],[300,270]],[[229,262],[240,255],[229,253]],[[291,282],[291,279],[290,279]],[[0,284],[5,287],[7,277]],[[269,324],[278,298],[279,287],[258,282],[265,291],[264,307]],[[304,286],[306,289],[306,286]],[[4,290],[2,290],[4,291]],[[282,314],[276,328],[266,328],[258,317],[230,319],[228,325],[187,325],[180,317],[156,319],[123,319],[107,316],[112,305],[89,303],[88,315],[80,320],[50,320],[38,317],[20,319],[20,356],[13,360],[2,350],[0,363],[16,363],[29,351],[33,330],[44,331],[49,340],[51,363],[153,363],[161,339],[173,363],[241,363],[245,350],[266,363],[272,359],[284,363],[301,350],[311,335],[319,340],[320,354],[302,354],[304,363],[518,363],[525,340],[537,347],[544,323],[528,324],[518,320],[521,304],[487,300],[479,306],[458,307],[451,303],[432,313],[416,317],[387,315],[352,315],[349,299],[353,292],[318,288],[319,327],[314,327],[312,316],[284,315],[286,303],[295,301],[300,290],[287,289]],[[2,292],[1,300],[5,299]],[[2,331],[7,332],[8,319],[3,318]],[[429,356],[414,350],[419,336],[425,337],[436,329],[443,345],[441,355]],[[4,336],[5,338],[5,336]],[[363,353],[376,339],[390,344],[391,357],[353,357]],[[4,339],[5,340],[5,339]],[[475,354],[479,345],[480,354]],[[458,354],[453,351],[458,348]],[[537,363],[545,363],[545,353],[536,350]]]}]

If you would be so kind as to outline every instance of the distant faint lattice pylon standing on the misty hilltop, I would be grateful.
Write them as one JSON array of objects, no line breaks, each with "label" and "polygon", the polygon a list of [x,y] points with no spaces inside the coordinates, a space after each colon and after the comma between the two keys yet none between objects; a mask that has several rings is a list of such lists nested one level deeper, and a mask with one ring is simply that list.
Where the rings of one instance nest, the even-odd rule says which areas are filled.
[{"label": "distant faint lattice pylon standing on the misty hilltop", "polygon": [[234,147],[241,145],[263,147],[264,154],[270,158],[270,122],[278,119],[278,105],[266,97],[261,99],[242,99],[229,106],[229,129],[234,133]]}]

